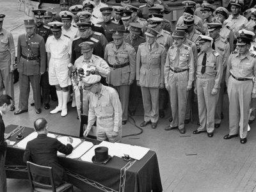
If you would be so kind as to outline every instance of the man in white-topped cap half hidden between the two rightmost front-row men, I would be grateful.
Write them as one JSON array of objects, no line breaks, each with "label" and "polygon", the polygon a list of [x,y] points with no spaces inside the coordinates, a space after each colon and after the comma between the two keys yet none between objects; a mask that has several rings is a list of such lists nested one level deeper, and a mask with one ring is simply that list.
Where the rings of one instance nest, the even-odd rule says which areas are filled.
[{"label": "man in white-topped cap half hidden between the two rightmost front-row men", "polygon": [[[223,66],[223,74],[226,74],[228,57],[230,55],[230,45],[222,36],[220,36],[220,30],[222,28],[222,24],[218,20],[213,20],[213,22],[208,23],[208,31],[213,39],[212,49],[218,52],[221,56],[222,66]],[[222,76],[220,82],[220,92],[218,102],[216,103],[215,110],[215,121],[214,128],[220,127],[221,123],[221,112],[223,105],[223,95],[224,95],[224,87],[225,87],[225,76]]]}]

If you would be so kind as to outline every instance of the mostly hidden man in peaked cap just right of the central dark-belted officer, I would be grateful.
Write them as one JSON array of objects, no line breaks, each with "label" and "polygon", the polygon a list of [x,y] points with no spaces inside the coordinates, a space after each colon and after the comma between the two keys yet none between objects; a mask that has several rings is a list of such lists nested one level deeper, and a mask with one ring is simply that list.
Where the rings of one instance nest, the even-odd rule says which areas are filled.
[{"label": "mostly hidden man in peaked cap just right of the central dark-belted officer", "polygon": [[[138,51],[138,47],[140,44],[144,43],[146,40],[141,34],[141,29],[143,26],[139,24],[138,22],[130,22],[130,33],[125,35],[124,41],[127,44],[132,45],[132,47],[135,49],[135,52]],[[129,95],[129,113],[131,115],[134,115],[136,112],[136,108],[138,106],[139,101],[139,95],[140,95],[140,87],[137,85],[136,81],[134,81],[130,86],[130,95]]]}]

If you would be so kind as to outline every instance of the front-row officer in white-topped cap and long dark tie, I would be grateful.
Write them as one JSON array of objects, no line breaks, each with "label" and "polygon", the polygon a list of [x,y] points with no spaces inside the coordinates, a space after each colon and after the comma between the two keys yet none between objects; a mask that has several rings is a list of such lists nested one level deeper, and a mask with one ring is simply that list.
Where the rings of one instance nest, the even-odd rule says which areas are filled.
[{"label": "front-row officer in white-topped cap and long dark tie", "polygon": [[200,127],[193,131],[193,134],[207,131],[209,138],[213,136],[214,114],[223,74],[223,59],[212,49],[212,42],[213,39],[205,35],[200,35],[198,40],[201,52],[198,53],[195,93]]}]

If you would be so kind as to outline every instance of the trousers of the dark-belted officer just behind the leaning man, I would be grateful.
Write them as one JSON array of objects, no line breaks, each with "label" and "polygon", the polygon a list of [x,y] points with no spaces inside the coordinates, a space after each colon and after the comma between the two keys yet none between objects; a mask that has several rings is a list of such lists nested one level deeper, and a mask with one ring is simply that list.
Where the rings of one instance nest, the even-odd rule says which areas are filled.
[{"label": "trousers of the dark-belted officer just behind the leaning man", "polygon": [[120,102],[122,105],[123,115],[122,120],[128,120],[128,104],[129,104],[129,90],[130,86],[128,84],[114,86],[115,90],[118,92],[120,97]]}]

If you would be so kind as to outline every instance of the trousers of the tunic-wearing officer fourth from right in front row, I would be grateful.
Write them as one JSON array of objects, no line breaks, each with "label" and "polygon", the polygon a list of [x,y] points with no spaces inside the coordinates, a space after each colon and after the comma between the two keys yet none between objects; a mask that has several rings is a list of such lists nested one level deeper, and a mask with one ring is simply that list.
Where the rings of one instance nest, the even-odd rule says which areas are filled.
[{"label": "trousers of the tunic-wearing officer fourth from right in front row", "polygon": [[159,118],[159,88],[141,86],[144,121],[156,123]]}]

